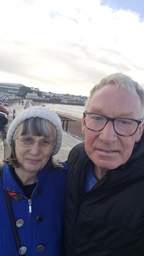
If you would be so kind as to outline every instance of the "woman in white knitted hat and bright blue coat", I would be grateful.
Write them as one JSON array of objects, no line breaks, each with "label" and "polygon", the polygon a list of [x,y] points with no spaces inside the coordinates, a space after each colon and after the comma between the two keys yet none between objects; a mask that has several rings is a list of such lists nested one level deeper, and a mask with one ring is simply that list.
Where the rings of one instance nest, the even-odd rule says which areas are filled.
[{"label": "woman in white knitted hat and bright blue coat", "polygon": [[61,140],[60,118],[47,107],[29,107],[9,126],[11,155],[0,180],[0,255],[63,256],[67,171],[52,157]]}]

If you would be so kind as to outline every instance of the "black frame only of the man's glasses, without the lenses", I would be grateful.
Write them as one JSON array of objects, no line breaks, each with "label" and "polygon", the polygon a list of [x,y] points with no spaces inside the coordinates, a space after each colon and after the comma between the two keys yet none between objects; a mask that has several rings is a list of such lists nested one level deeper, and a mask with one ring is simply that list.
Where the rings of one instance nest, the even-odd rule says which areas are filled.
[{"label": "black frame only of the man's glasses, without the lenses", "polygon": [[[138,129],[138,127],[140,126],[140,124],[142,124],[142,122],[143,122],[143,119],[137,120],[137,119],[127,118],[127,117],[117,117],[117,118],[114,118],[114,117],[107,117],[107,116],[104,116],[104,115],[102,115],[102,114],[97,114],[97,113],[93,113],[93,112],[86,112],[86,111],[84,111],[84,112],[83,112],[83,115],[84,115],[84,124],[85,124],[85,126],[86,126],[86,120],[85,120],[85,118],[86,118],[86,115],[87,115],[87,114],[95,114],[95,115],[98,115],[98,116],[103,116],[103,117],[106,118],[107,122],[109,122],[109,121],[112,122],[113,127],[114,127],[114,121],[117,120],[117,119],[126,119],[126,120],[135,121],[135,122],[137,122],[137,129]],[[106,122],[105,126],[107,125],[107,122]],[[104,127],[105,127],[105,126],[104,126]],[[103,127],[101,130],[103,130],[104,127]],[[92,130],[93,132],[101,132],[101,130],[89,129],[87,126],[86,126],[86,128],[87,128],[88,130]],[[137,129],[135,130],[135,132],[137,132]],[[115,131],[115,134],[120,135],[120,136],[123,136],[123,137],[131,137],[131,136],[133,136],[133,135],[135,134],[135,132],[133,132],[133,134],[131,134],[131,135],[121,135],[121,134],[119,134],[118,132],[116,132],[115,127],[114,127],[114,131]]]}]

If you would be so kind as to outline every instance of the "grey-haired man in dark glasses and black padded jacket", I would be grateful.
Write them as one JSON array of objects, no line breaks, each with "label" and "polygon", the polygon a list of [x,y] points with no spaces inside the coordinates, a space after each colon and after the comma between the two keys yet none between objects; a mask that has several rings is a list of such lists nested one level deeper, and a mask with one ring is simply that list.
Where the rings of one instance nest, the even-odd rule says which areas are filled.
[{"label": "grey-haired man in dark glasses and black padded jacket", "polygon": [[144,255],[143,110],[143,88],[121,73],[91,90],[68,157],[66,256]]}]

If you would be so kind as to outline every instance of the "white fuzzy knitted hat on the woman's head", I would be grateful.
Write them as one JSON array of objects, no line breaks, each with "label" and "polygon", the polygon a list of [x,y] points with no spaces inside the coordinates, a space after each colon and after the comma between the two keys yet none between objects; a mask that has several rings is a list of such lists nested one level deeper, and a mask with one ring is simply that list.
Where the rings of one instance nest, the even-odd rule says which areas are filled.
[{"label": "white fuzzy knitted hat on the woman's head", "polygon": [[7,145],[11,147],[12,138],[14,136],[14,132],[16,131],[19,124],[24,121],[25,119],[29,119],[30,117],[40,117],[44,118],[45,120],[48,120],[52,122],[53,126],[55,126],[56,129],[56,146],[53,150],[53,155],[56,155],[61,147],[62,137],[63,137],[63,129],[61,127],[61,120],[58,115],[48,109],[48,107],[42,107],[42,106],[34,106],[34,107],[28,107],[22,113],[20,113],[11,123],[9,126],[8,132],[7,132]]}]

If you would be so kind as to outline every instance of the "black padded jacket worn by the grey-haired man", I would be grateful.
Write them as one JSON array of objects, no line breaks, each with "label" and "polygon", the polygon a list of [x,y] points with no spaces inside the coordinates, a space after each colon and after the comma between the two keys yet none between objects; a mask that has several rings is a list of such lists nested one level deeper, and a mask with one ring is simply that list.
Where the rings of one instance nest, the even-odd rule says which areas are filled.
[{"label": "black padded jacket worn by the grey-haired man", "polygon": [[89,168],[84,144],[68,157],[66,256],[144,255],[144,136],[128,162],[84,193]]}]

